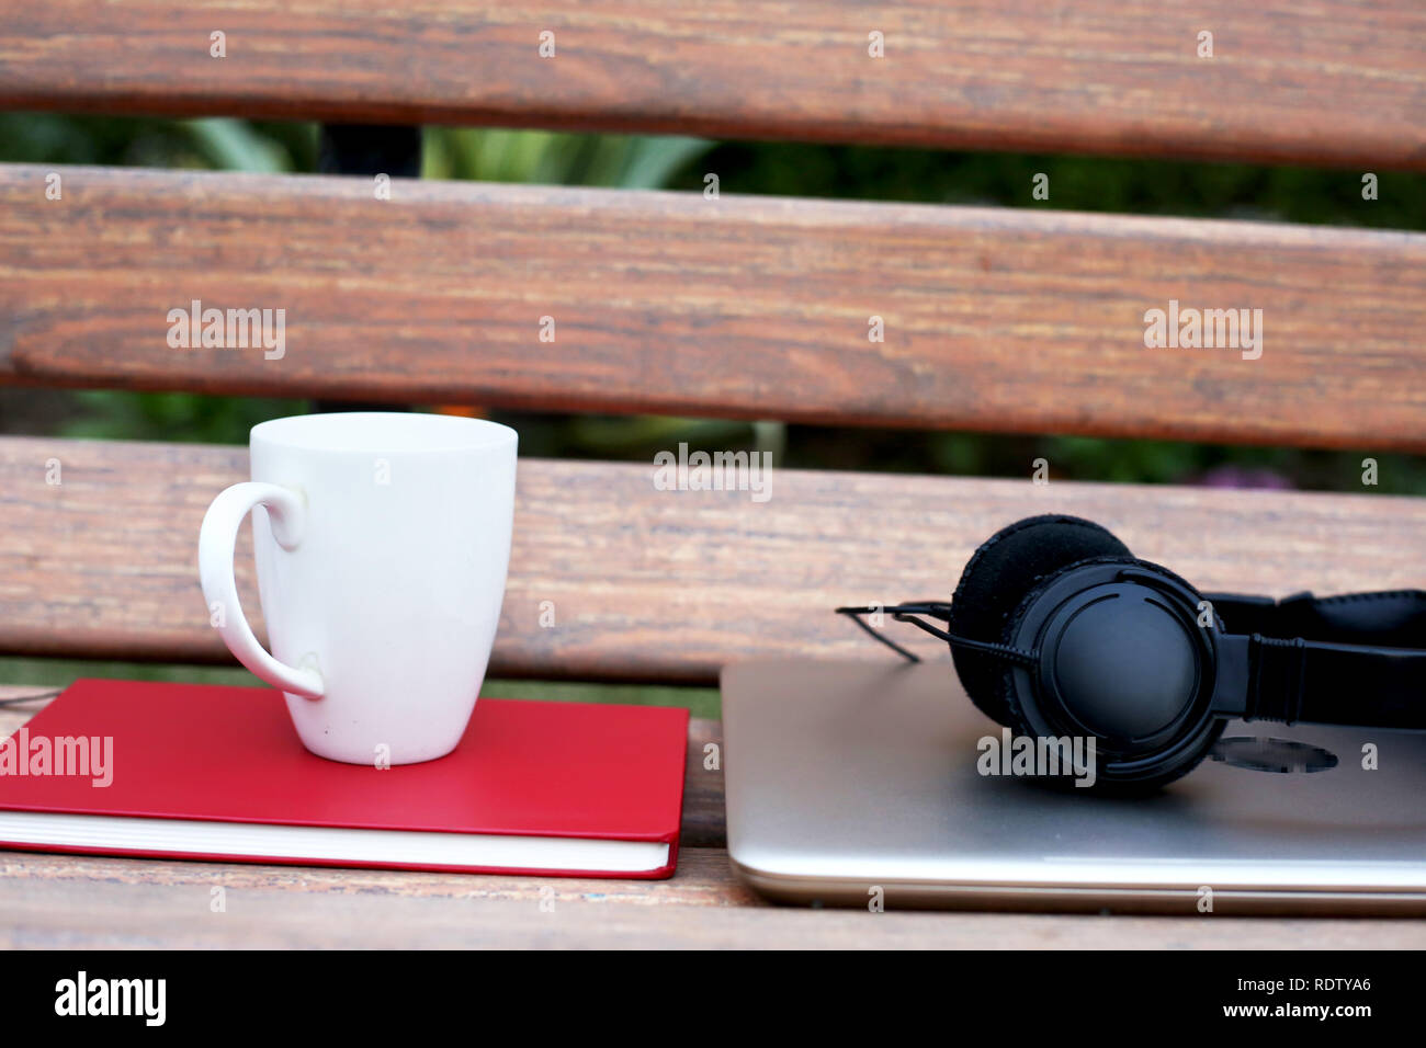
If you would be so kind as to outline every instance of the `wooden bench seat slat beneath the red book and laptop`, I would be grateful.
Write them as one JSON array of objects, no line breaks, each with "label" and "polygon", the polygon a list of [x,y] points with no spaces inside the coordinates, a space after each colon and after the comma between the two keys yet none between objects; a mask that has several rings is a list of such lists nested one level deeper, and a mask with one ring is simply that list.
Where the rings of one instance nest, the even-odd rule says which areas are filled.
[{"label": "wooden bench seat slat beneath the red book and laptop", "polygon": [[[3,687],[0,699],[43,694]],[[0,706],[0,737],[44,700]],[[690,753],[722,726],[690,724]],[[716,806],[716,807],[714,807]],[[0,948],[1420,948],[1423,920],[860,913],[771,907],[699,844],[722,773],[690,760],[667,881],[502,877],[0,850]],[[212,890],[227,910],[212,913]],[[553,910],[548,910],[553,891]],[[546,907],[542,908],[542,903]]]}]

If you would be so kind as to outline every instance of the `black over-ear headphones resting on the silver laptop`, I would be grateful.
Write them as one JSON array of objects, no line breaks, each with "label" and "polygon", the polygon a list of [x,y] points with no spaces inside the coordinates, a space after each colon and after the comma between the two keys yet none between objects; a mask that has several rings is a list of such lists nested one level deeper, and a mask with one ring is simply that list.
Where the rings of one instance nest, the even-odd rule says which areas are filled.
[{"label": "black over-ear headphones resting on the silver laptop", "polygon": [[945,640],[971,702],[1017,734],[1092,737],[1101,787],[1178,779],[1235,717],[1426,729],[1426,592],[1201,595],[1075,516],[998,530],[948,605],[837,612],[913,662],[861,616]]}]

